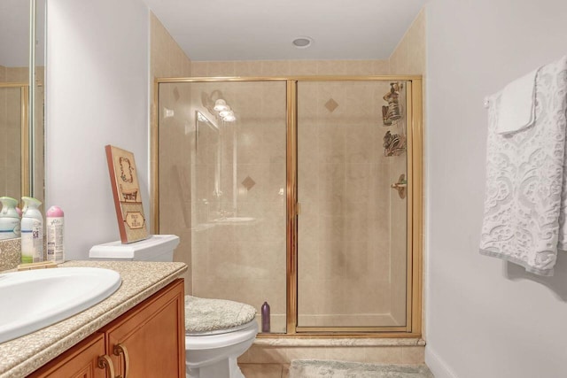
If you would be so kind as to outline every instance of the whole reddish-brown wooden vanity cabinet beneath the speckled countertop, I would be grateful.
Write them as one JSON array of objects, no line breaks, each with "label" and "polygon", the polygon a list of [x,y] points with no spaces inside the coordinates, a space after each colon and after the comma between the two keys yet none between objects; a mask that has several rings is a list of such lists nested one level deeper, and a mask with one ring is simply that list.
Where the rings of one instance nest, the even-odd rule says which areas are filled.
[{"label": "whole reddish-brown wooden vanity cabinet beneath the speckled countertop", "polygon": [[185,377],[183,279],[170,283],[30,378]]}]

